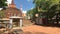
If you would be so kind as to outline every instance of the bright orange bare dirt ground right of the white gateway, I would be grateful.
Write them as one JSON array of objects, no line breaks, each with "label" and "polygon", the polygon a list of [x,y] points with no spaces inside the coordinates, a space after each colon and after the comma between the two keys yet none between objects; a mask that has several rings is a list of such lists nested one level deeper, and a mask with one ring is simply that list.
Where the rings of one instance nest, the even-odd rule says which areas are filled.
[{"label": "bright orange bare dirt ground right of the white gateway", "polygon": [[31,25],[22,28],[22,34],[60,34],[60,28],[58,27],[44,27]]}]

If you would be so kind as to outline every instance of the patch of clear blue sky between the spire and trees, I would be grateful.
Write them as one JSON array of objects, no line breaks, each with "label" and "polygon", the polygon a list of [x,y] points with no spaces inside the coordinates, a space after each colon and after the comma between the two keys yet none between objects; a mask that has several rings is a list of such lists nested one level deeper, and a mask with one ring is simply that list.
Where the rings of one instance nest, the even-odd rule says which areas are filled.
[{"label": "patch of clear blue sky between the spire and trees", "polygon": [[21,5],[23,11],[27,11],[34,7],[33,0],[14,0],[14,3],[18,9],[20,9]]}]

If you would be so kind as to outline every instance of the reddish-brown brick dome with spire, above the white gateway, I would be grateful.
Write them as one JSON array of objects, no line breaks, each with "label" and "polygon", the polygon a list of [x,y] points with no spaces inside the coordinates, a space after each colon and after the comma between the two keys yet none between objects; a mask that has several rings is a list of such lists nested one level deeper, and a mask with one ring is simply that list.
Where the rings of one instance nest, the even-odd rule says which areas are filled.
[{"label": "reddish-brown brick dome with spire, above the white gateway", "polygon": [[22,12],[20,9],[16,8],[16,5],[14,4],[14,0],[12,0],[11,4],[9,4],[8,8],[6,10],[3,10],[5,12],[5,18],[9,18],[11,16],[22,16]]}]

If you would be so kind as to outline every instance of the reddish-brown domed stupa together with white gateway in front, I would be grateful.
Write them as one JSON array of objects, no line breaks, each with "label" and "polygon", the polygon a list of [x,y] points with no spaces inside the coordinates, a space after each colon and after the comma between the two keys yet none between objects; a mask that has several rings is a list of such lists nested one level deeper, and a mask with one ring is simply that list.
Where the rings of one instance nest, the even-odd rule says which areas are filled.
[{"label": "reddish-brown domed stupa together with white gateway in front", "polygon": [[[20,28],[22,27],[22,11],[21,8],[17,9],[16,5],[14,4],[14,0],[12,0],[11,4],[9,4],[8,8],[4,11],[4,18],[7,18],[9,20],[8,23],[10,23],[10,28],[12,28],[12,26],[16,26],[18,25]],[[6,21],[6,19],[4,20]],[[18,21],[18,22],[14,22],[14,21]]]}]

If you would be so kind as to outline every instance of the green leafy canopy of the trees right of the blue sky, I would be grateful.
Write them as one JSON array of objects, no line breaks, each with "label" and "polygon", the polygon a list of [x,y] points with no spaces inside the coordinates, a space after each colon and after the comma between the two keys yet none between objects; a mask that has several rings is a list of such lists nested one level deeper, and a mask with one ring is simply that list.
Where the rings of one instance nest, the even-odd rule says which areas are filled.
[{"label": "green leafy canopy of the trees right of the blue sky", "polygon": [[33,3],[35,8],[27,12],[32,14],[33,17],[38,13],[39,17],[52,18],[56,15],[57,11],[60,12],[60,0],[33,0]]}]

